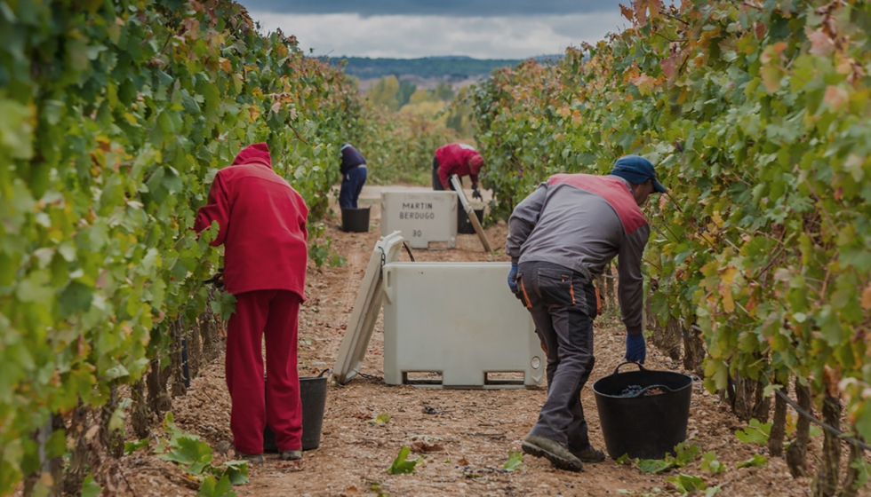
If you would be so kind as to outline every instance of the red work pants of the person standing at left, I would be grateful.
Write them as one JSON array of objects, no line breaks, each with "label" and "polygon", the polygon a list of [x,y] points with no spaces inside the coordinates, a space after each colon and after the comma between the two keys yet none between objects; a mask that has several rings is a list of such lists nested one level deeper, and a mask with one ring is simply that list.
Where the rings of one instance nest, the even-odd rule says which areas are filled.
[{"label": "red work pants of the person standing at left", "polygon": [[[297,372],[297,317],[300,296],[289,290],[256,290],[236,295],[227,331],[227,388],[233,406],[233,445],[243,454],[263,452],[268,420],[278,450],[302,446],[300,375]],[[263,398],[262,336],[266,334],[267,393]]]}]

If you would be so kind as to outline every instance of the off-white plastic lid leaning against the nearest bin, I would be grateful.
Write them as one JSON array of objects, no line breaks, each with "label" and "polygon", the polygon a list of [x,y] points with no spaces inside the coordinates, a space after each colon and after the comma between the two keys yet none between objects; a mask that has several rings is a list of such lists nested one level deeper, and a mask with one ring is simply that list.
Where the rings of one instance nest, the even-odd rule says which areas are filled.
[{"label": "off-white plastic lid leaning against the nearest bin", "polygon": [[378,312],[384,300],[381,292],[381,266],[382,264],[394,263],[399,259],[399,252],[403,247],[403,237],[400,232],[393,232],[382,236],[375,248],[372,248],[372,257],[360,289],[354,301],[354,310],[348,319],[348,327],[339,347],[339,356],[336,365],[332,368],[332,375],[336,383],[344,385],[360,372],[366,349],[369,348],[369,340],[372,338],[372,330],[378,319]]}]

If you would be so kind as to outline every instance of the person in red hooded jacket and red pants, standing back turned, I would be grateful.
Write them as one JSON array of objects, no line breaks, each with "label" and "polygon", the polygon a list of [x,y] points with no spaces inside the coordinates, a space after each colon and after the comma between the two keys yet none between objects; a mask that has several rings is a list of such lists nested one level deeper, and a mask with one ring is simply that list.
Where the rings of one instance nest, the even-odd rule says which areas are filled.
[{"label": "person in red hooded jacket and red pants, standing back turned", "polygon": [[[197,233],[218,224],[212,246],[224,245],[223,280],[236,296],[227,333],[230,430],[236,453],[263,461],[263,429],[276,433],[284,460],[302,457],[302,406],[297,372],[297,317],[304,300],[308,207],[272,170],[265,143],[246,146],[212,183],[196,213]],[[267,393],[262,336],[266,335]]]}]

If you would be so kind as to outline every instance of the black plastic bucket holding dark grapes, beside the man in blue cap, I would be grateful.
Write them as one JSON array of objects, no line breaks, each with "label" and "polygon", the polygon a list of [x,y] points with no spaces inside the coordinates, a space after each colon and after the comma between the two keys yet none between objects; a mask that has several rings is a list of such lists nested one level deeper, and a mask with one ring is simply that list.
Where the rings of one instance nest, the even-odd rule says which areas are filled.
[{"label": "black plastic bucket holding dark grapes, beside the man in blue cap", "polygon": [[[595,406],[608,455],[618,459],[623,454],[631,458],[662,459],[674,454],[675,446],[686,439],[686,424],[690,419],[692,378],[674,371],[653,371],[640,364],[638,371],[619,373],[593,383]],[[630,385],[641,387],[637,397],[621,397]],[[648,389],[662,393],[646,395]]]}]

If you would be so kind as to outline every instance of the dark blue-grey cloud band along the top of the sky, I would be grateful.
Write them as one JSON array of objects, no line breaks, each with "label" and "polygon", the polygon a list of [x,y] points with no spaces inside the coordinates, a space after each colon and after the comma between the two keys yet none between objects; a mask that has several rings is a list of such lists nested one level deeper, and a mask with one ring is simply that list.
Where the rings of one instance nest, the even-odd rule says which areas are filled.
[{"label": "dark blue-grey cloud band along the top of the sky", "polygon": [[[242,0],[250,11],[337,14],[364,17],[416,15],[451,17],[531,16],[619,12],[620,0]],[[623,4],[630,4],[623,0]]]}]

